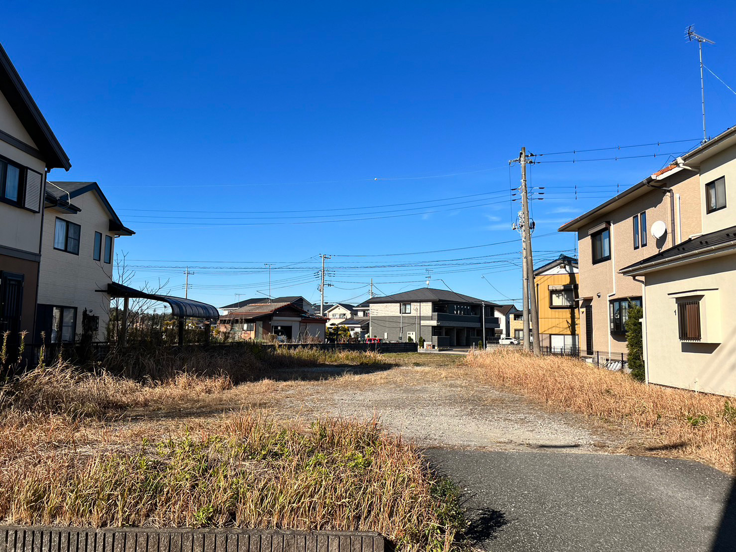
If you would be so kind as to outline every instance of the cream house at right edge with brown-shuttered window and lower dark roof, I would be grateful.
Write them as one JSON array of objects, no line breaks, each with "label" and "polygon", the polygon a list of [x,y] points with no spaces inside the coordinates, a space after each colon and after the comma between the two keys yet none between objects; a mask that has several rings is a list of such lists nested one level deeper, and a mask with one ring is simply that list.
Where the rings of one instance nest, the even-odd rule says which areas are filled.
[{"label": "cream house at right edge with brown-shuttered window and lower dark roof", "polygon": [[674,244],[620,271],[644,281],[646,379],[736,396],[736,127],[668,170],[698,171],[696,197],[682,198],[682,219],[687,211],[701,226],[677,228]]}]

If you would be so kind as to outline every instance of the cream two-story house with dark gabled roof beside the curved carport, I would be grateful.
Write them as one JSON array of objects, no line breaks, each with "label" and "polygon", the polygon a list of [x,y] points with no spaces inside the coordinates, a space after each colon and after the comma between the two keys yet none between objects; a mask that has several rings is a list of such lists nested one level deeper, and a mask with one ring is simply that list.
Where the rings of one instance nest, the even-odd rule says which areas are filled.
[{"label": "cream two-story house with dark gabled roof beside the curved carport", "polygon": [[132,236],[96,182],[46,183],[35,341],[107,335],[115,241]]}]

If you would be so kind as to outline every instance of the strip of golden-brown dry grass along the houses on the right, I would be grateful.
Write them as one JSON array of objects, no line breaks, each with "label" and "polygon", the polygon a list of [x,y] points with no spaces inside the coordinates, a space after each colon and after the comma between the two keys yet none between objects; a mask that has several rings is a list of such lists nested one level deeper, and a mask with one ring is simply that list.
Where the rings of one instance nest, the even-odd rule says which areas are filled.
[{"label": "strip of golden-brown dry grass along the houses on the right", "polygon": [[736,400],[647,386],[572,358],[496,350],[469,355],[465,364],[483,383],[645,431],[652,443],[643,452],[698,459],[736,475]]}]

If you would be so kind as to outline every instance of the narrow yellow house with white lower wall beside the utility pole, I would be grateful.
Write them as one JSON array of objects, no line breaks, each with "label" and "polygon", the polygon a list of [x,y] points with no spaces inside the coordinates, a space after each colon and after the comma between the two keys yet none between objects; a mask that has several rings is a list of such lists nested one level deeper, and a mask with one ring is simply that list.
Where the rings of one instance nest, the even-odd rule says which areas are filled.
[{"label": "narrow yellow house with white lower wall beside the utility pole", "polygon": [[542,348],[576,352],[580,334],[578,260],[560,255],[534,271]]}]

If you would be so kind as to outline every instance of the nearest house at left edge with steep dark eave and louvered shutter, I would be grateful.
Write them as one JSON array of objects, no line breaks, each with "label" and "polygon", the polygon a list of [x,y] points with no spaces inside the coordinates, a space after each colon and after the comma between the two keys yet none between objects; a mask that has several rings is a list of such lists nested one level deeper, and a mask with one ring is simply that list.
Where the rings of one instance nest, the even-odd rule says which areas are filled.
[{"label": "nearest house at left edge with steep dark eave and louvered shutter", "polygon": [[46,173],[71,167],[0,46],[0,333],[33,332]]}]

